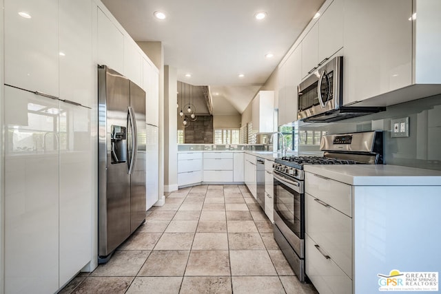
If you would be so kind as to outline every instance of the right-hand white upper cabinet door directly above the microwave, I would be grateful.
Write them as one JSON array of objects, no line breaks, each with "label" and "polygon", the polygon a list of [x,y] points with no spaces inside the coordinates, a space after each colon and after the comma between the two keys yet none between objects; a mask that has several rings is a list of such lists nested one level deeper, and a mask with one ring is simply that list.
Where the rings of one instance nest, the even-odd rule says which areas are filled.
[{"label": "right-hand white upper cabinet door directly above the microwave", "polygon": [[334,0],[318,20],[319,64],[343,47],[343,1]]}]

